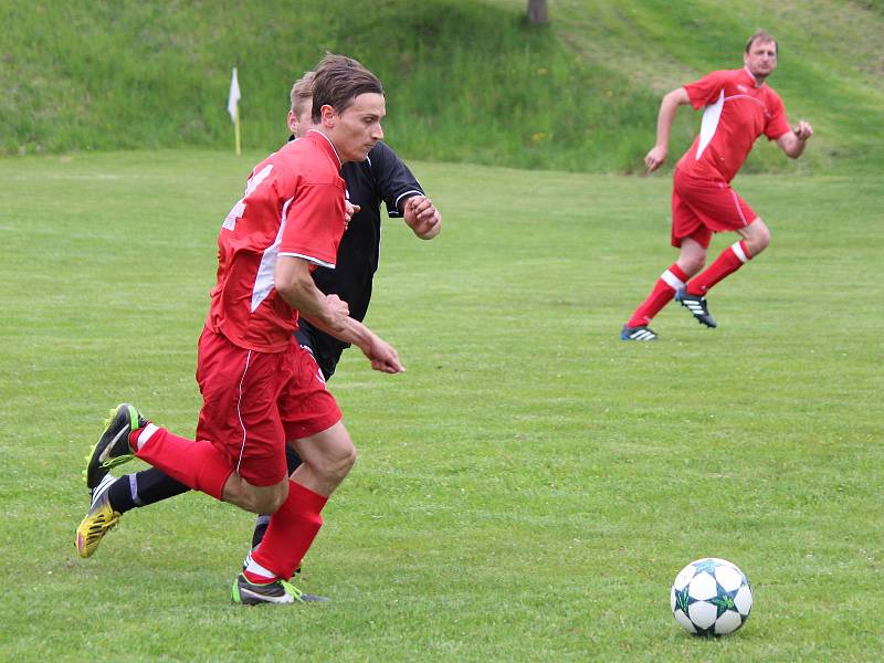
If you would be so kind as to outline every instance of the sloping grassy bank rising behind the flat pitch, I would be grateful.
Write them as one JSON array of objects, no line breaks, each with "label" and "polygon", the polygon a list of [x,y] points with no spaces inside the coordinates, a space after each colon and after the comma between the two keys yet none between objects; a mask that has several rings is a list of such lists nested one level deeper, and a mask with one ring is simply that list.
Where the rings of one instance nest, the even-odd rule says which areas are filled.
[{"label": "sloping grassy bank rising behind the flat pitch", "polygon": [[[662,93],[741,65],[764,25],[780,39],[771,84],[792,122],[814,124],[798,162],[765,146],[747,171],[884,168],[880,2],[326,0],[260,3],[9,0],[0,19],[0,154],[198,146],[231,149],[230,69],[243,145],[285,133],[287,92],[326,50],[385,81],[386,128],[402,154],[529,169],[634,172]],[[697,114],[682,110],[672,162]],[[762,141],[766,143],[766,141]]]}]

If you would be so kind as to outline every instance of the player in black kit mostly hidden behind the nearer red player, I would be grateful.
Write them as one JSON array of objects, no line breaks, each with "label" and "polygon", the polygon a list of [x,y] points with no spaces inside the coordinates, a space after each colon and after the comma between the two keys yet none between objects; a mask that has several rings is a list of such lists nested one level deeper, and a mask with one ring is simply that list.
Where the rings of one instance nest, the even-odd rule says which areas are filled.
[{"label": "player in black kit mostly hidden behind the nearer red player", "polygon": [[[288,112],[290,140],[305,134],[313,125],[313,72],[307,72],[292,87],[292,107]],[[380,206],[383,202],[389,217],[401,217],[414,234],[431,240],[442,229],[442,217],[427,198],[418,180],[397,154],[383,143],[378,143],[361,162],[347,164],[341,169],[347,183],[349,201],[355,213],[349,221],[338,248],[335,270],[319,267],[313,278],[325,294],[336,294],[349,306],[350,317],[361,322],[371,299],[371,285],[380,256]],[[298,320],[296,337],[309,349],[325,379],[332,377],[347,344],[325,334],[307,320]],[[288,473],[301,463],[291,445],[286,446]],[[92,492],[90,512],[77,527],[83,534],[77,540],[81,557],[90,557],[104,535],[119,522],[119,515],[133,508],[148,506],[168,497],[186,493],[189,488],[150,467],[122,477],[105,476]],[[113,518],[98,518],[97,505],[105,499],[114,512]],[[106,511],[106,509],[105,509]],[[270,516],[259,516],[252,546],[264,536]]]}]

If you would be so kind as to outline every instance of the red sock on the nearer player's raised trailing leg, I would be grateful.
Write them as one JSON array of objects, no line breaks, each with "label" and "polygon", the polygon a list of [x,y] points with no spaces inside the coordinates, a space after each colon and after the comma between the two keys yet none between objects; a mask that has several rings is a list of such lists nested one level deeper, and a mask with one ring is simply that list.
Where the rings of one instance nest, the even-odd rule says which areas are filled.
[{"label": "red sock on the nearer player's raised trailing leg", "polygon": [[196,491],[221,499],[233,466],[225,454],[207,440],[179,438],[148,423],[129,434],[135,455]]}]

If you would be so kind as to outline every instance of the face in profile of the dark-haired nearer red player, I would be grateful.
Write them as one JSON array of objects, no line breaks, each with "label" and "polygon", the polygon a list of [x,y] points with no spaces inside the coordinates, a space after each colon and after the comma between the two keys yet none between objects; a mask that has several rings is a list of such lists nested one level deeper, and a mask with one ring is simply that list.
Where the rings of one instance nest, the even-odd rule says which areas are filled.
[{"label": "face in profile of the dark-haired nearer red player", "polygon": [[365,161],[375,144],[383,138],[381,118],[387,114],[382,94],[366,92],[343,113],[323,106],[323,125],[343,161]]}]

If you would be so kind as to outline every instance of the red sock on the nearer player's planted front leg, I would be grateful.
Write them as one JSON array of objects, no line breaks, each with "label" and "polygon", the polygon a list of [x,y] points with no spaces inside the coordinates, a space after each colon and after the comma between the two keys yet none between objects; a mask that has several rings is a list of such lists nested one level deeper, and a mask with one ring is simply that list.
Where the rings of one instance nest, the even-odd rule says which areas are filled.
[{"label": "red sock on the nearer player's planted front leg", "polygon": [[326,502],[328,497],[290,480],[288,497],[271,516],[252,559],[278,578],[291,578],[323,526],[320,512]]}]

